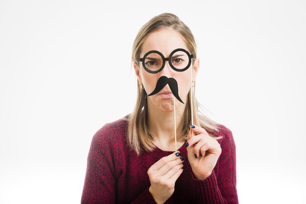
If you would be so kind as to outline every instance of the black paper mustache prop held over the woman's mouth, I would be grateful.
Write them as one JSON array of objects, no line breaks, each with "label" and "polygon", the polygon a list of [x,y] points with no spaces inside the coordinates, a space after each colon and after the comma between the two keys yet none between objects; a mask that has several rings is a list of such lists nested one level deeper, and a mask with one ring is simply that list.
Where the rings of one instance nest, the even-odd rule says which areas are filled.
[{"label": "black paper mustache prop held over the woman's mouth", "polygon": [[170,90],[172,91],[172,94],[175,96],[175,98],[181,102],[184,103],[182,101],[182,99],[180,99],[179,95],[178,95],[178,87],[177,87],[177,82],[174,78],[168,78],[166,76],[161,76],[159,77],[159,79],[157,80],[156,83],[156,87],[154,89],[154,91],[152,91],[152,93],[150,93],[148,96],[154,95],[156,93],[158,93],[160,90],[162,90],[167,84],[169,84]]}]

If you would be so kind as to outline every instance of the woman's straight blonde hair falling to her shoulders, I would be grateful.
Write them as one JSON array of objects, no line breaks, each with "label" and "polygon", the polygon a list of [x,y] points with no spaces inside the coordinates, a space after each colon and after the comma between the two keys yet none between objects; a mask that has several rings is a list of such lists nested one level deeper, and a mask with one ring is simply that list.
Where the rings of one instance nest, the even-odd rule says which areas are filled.
[{"label": "woman's straight blonde hair falling to her shoulders", "polygon": [[[197,57],[197,45],[195,38],[189,29],[189,27],[180,21],[177,16],[171,13],[163,13],[155,16],[148,23],[144,24],[133,43],[132,48],[132,63],[138,65],[141,46],[143,45],[146,37],[153,31],[157,31],[162,28],[172,28],[178,32],[184,40],[189,51]],[[195,88],[195,87],[194,87]],[[152,152],[155,148],[153,144],[153,133],[148,123],[148,110],[146,103],[147,93],[144,89],[140,89],[137,83],[137,99],[134,111],[130,114],[128,120],[128,142],[132,150],[137,155],[140,155],[142,151]],[[193,117],[194,124],[204,128],[210,136],[214,131],[219,131],[215,121],[204,116],[200,113],[198,107],[200,104],[197,102],[195,95],[193,94]],[[185,110],[181,124],[178,125],[177,129],[177,141],[186,141],[187,134],[190,130],[191,125],[191,107],[190,107],[190,94],[188,94]],[[199,114],[200,113],[200,114]],[[220,137],[215,137],[216,139]]]}]

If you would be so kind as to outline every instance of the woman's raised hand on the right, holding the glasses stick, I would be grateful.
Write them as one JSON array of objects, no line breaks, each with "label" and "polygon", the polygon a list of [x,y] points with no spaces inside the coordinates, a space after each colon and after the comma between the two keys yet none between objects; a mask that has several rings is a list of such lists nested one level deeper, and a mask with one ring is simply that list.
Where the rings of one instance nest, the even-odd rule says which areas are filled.
[{"label": "woman's raised hand on the right, holding the glasses stick", "polygon": [[[198,135],[188,134],[188,160],[196,179],[206,179],[211,175],[221,154],[219,142],[208,135],[204,128],[194,126],[191,131]],[[186,143],[187,145],[187,143]],[[186,146],[185,145],[185,146]]]}]

